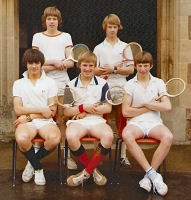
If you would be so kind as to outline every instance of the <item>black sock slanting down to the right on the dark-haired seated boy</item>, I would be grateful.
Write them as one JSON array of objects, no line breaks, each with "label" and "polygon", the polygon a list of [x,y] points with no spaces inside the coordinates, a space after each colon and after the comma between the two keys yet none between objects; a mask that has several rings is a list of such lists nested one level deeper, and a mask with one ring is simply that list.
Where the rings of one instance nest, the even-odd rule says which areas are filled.
[{"label": "black sock slanting down to the right on the dark-haired seated boy", "polygon": [[42,169],[42,166],[39,160],[37,159],[33,146],[31,146],[31,148],[28,151],[26,152],[21,151],[21,152],[30,161],[31,165],[35,170]]}]

